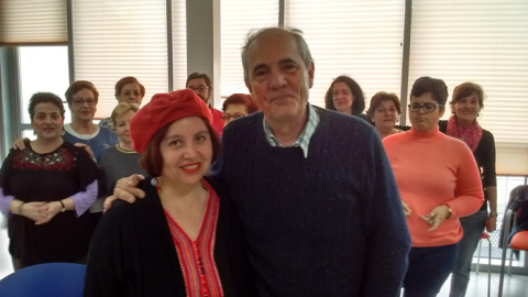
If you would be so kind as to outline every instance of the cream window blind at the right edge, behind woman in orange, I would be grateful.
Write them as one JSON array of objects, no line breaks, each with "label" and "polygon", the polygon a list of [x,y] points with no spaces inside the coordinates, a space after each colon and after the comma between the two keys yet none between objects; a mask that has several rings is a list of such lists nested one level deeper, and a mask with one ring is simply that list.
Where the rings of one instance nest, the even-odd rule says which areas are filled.
[{"label": "cream window blind at the right edge, behind woman in orange", "polygon": [[527,15],[522,0],[413,4],[409,90],[421,76],[443,79],[450,96],[464,81],[481,85],[486,98],[479,122],[494,134],[503,175],[528,174]]}]

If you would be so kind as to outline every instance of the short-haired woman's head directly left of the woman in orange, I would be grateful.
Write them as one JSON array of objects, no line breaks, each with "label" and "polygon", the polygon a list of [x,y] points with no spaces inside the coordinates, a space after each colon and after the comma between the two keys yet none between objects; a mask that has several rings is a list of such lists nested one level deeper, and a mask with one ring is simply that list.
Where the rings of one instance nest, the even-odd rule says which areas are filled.
[{"label": "short-haired woman's head directly left of the woman in orange", "polygon": [[402,132],[402,130],[395,128],[398,117],[402,114],[402,106],[395,94],[376,92],[371,99],[371,106],[366,114],[371,117],[382,140],[394,133]]}]

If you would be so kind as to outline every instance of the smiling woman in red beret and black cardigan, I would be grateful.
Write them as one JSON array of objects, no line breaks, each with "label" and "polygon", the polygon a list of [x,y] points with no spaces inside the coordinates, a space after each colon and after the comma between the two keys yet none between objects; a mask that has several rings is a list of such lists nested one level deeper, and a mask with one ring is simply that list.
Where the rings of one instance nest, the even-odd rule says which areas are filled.
[{"label": "smiling woman in red beret and black cardigan", "polygon": [[117,201],[94,234],[85,296],[255,296],[235,218],[204,178],[219,150],[190,89],[157,94],[130,122],[152,176],[136,204]]}]

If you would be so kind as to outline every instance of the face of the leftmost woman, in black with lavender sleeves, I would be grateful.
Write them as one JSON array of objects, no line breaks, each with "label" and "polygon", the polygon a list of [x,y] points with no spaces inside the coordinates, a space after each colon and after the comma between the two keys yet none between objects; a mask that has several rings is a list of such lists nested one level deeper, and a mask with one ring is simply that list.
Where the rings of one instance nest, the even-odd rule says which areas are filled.
[{"label": "face of the leftmost woman, in black with lavender sleeves", "polygon": [[61,138],[64,118],[61,109],[51,102],[37,103],[34,107],[31,127],[40,140],[53,141]]}]

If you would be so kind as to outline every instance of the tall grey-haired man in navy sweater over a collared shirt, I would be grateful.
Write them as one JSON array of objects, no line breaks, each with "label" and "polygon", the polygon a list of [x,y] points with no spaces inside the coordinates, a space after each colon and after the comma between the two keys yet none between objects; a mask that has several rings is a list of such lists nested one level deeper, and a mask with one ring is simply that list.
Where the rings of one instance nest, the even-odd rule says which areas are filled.
[{"label": "tall grey-haired man in navy sweater over a collared shirt", "polygon": [[[262,112],[226,127],[209,178],[238,213],[260,295],[399,296],[410,237],[375,130],[308,103],[300,31],[257,31],[242,64]],[[142,197],[138,180],[114,195]]]}]

